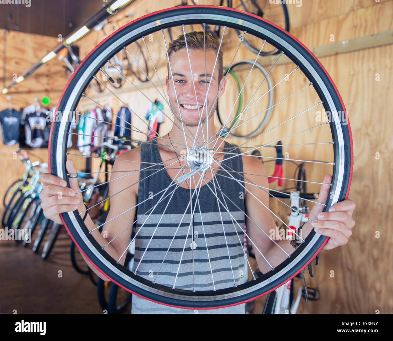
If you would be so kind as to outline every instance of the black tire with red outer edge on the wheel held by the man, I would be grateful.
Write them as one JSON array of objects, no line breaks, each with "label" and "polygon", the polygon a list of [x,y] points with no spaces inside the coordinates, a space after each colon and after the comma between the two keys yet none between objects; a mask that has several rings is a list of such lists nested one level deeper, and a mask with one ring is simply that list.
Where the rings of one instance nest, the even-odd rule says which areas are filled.
[{"label": "black tire with red outer edge on the wheel held by the man", "polygon": [[[169,14],[168,14],[169,12]],[[239,12],[234,9],[222,9],[222,8],[217,8],[215,6],[195,6],[195,7],[179,7],[176,9],[164,9],[162,11],[154,12],[151,13],[150,15],[146,15],[142,18],[139,18],[133,22],[130,22],[129,24],[123,26],[123,28],[117,31],[117,33],[120,36],[121,34],[131,34],[133,29],[136,29],[136,27],[141,28],[143,26],[143,29],[139,30],[138,35],[143,36],[146,34],[149,34],[150,32],[156,31],[156,26],[157,22],[160,22],[160,28],[165,29],[169,26],[176,25],[177,22],[180,22],[180,15],[182,17],[182,21],[186,21],[186,24],[192,24],[193,22],[201,22],[201,16],[205,13],[211,14],[211,18],[208,19],[203,19],[204,22],[206,23],[213,23],[213,24],[220,24],[220,25],[227,25],[230,22],[231,27],[235,28],[236,26],[240,26],[239,19],[243,20],[242,22],[247,22],[247,28],[248,31],[257,37],[261,37],[262,31],[267,34],[264,38],[267,41],[272,41],[270,39],[271,36],[277,37],[277,42],[275,45],[279,46],[281,50],[285,50],[283,47],[283,44],[290,45],[292,50],[287,51],[287,55],[294,61],[296,64],[303,65],[302,63],[299,63],[299,58],[305,61],[307,65],[312,68],[310,70],[309,68],[303,68],[302,71],[303,73],[310,79],[314,80],[314,83],[312,85],[314,86],[314,89],[316,90],[317,94],[320,96],[320,98],[323,99],[322,103],[323,105],[327,107],[326,103],[330,103],[330,105],[334,105],[333,109],[338,108],[338,109],[343,109],[343,112],[345,107],[343,105],[342,99],[340,94],[338,93],[332,79],[330,78],[329,74],[327,74],[325,68],[320,64],[318,59],[303,45],[301,42],[299,42],[295,37],[290,35],[288,32],[284,31],[283,29],[279,28],[278,26],[272,25],[270,22],[267,22],[264,19],[261,19],[257,16],[249,15],[246,13]],[[171,17],[169,18],[169,15]],[[213,15],[215,15],[217,18],[212,18]],[[174,19],[176,18],[175,22]],[[214,22],[213,22],[214,20]],[[237,20],[234,22],[234,20]],[[150,24],[150,27],[147,25],[147,23]],[[156,24],[156,26],[153,26]],[[254,28],[255,27],[255,28]],[[118,39],[119,37],[116,36],[116,33],[110,37],[114,41]],[[139,37],[131,37],[127,41],[122,41],[121,44],[129,44],[135,39],[139,39]],[[101,51],[105,48],[108,47],[108,45],[112,44],[112,41],[108,42],[108,39],[105,39],[99,46],[97,46],[84,60],[81,65],[79,65],[79,68],[75,74],[83,74],[83,72],[86,70],[86,65],[90,65],[89,62],[93,62],[95,60],[95,57],[101,53]],[[120,44],[120,43],[119,43]],[[299,52],[300,51],[300,52]],[[116,49],[113,49],[110,53],[108,53],[107,56],[104,56],[105,58],[110,57],[110,55],[113,55],[114,53],[117,53]],[[102,59],[104,60],[104,59]],[[104,61],[105,63],[105,61]],[[97,64],[98,66],[98,64]],[[299,66],[300,67],[300,66]],[[91,68],[90,68],[91,70]],[[89,70],[89,73],[90,73]],[[312,71],[318,72],[315,74],[315,76],[318,76],[315,78],[314,74]],[[95,72],[95,71],[94,71]],[[70,100],[70,91],[74,88],[74,86],[78,83],[78,88],[80,88],[82,91],[84,88],[88,86],[88,82],[92,78],[94,72],[89,75],[86,75],[82,80],[80,80],[79,77],[73,77],[71,81],[69,82],[69,86],[64,90],[61,100],[59,101],[57,109],[62,109],[64,108],[64,105],[67,103],[68,100]],[[78,80],[80,80],[78,82]],[[324,93],[324,90],[326,91],[326,94]],[[77,92],[79,95],[79,92]],[[327,97],[326,97],[327,96]],[[73,97],[72,98],[72,103],[70,103],[71,107],[72,105],[75,105],[79,99],[79,97]],[[329,99],[329,102],[327,102],[327,99]],[[325,108],[325,109],[326,109]],[[332,130],[332,135],[333,139],[340,138],[342,139],[343,144],[340,146],[339,144],[334,144],[334,150],[335,150],[335,161],[338,164],[338,161],[341,161],[344,166],[340,169],[342,174],[338,174],[338,170],[334,169],[332,172],[332,184],[339,185],[340,188],[337,189],[337,191],[334,192],[333,197],[329,197],[327,200],[325,210],[327,210],[332,203],[342,201],[343,199],[346,199],[348,194],[349,194],[349,188],[351,184],[351,176],[352,176],[352,168],[353,168],[353,144],[352,144],[352,137],[350,133],[350,126],[349,123],[345,126],[341,125],[341,123],[337,122],[329,122],[329,125],[331,126]],[[50,155],[49,155],[49,162],[50,162],[50,170],[51,173],[61,176],[68,180],[68,178],[63,174],[66,174],[66,169],[65,169],[65,161],[63,162],[63,158],[65,155],[63,153],[59,153],[60,159],[58,160],[58,168],[57,168],[57,163],[56,163],[56,154],[55,151],[57,150],[56,147],[59,147],[61,150],[65,150],[65,140],[62,138],[59,141],[61,141],[60,144],[56,144],[57,140],[59,137],[64,136],[64,128],[67,128],[69,125],[69,122],[63,122],[63,127],[62,130],[59,131],[60,128],[60,123],[54,122],[52,123],[51,127],[51,140],[50,140]],[[337,131],[335,129],[340,129],[340,134],[338,135]],[[60,136],[59,136],[60,133]],[[337,153],[340,152],[339,148],[344,148],[345,146],[345,153],[344,150],[342,153]],[[53,150],[51,150],[53,149]],[[338,159],[338,156],[341,159]],[[298,260],[298,262],[295,264],[294,262],[290,264],[291,262],[289,260],[284,261],[281,263],[279,266],[275,268],[275,273],[279,273],[279,275],[275,275],[274,279],[272,282],[269,282],[262,288],[256,289],[250,289],[252,287],[252,284],[246,283],[242,284],[242,288],[245,291],[242,291],[241,295],[234,296],[234,295],[229,295],[229,293],[232,293],[232,291],[229,289],[220,289],[220,294],[226,296],[225,299],[219,299],[219,305],[217,305],[218,301],[217,299],[217,293],[213,291],[206,291],[203,292],[203,299],[202,297],[198,297],[199,300],[194,300],[195,297],[187,292],[187,293],[181,293],[181,292],[176,292],[176,296],[173,294],[174,290],[167,288],[167,287],[162,287],[160,285],[155,284],[155,290],[158,292],[165,293],[165,296],[160,296],[159,294],[153,293],[152,291],[149,291],[147,289],[142,288],[142,284],[145,288],[149,288],[149,284],[152,284],[149,281],[144,281],[143,279],[139,279],[138,285],[131,284],[131,282],[124,280],[122,276],[119,276],[117,273],[115,273],[112,269],[115,269],[118,264],[114,262],[114,260],[110,259],[110,257],[107,257],[105,253],[101,252],[99,249],[101,249],[100,245],[95,241],[88,239],[88,236],[86,236],[86,230],[83,234],[83,238],[74,228],[73,224],[77,224],[79,227],[83,227],[84,224],[81,221],[81,218],[77,214],[77,212],[67,212],[61,214],[61,218],[64,221],[64,224],[66,228],[68,229],[70,235],[72,236],[73,240],[75,243],[78,245],[78,247],[83,248],[83,253],[86,255],[86,257],[92,262],[93,264],[99,264],[101,266],[101,271],[105,273],[109,278],[112,279],[113,282],[115,282],[118,285],[123,286],[123,288],[126,288],[129,291],[132,291],[134,293],[139,293],[139,295],[142,295],[146,299],[153,300],[155,302],[161,302],[162,304],[166,305],[171,305],[175,307],[180,307],[180,308],[220,308],[224,306],[230,306],[230,305],[235,305],[235,304],[241,304],[242,302],[246,302],[248,300],[255,299],[257,297],[260,297],[267,292],[271,291],[274,288],[277,288],[281,286],[283,283],[287,282],[289,279],[291,279],[293,276],[295,276],[297,273],[299,273],[303,268],[309,264],[312,259],[319,253],[319,251],[323,248],[327,240],[329,239],[328,237],[325,236],[316,236],[316,233],[312,231],[310,235],[306,238],[305,242],[298,247],[293,253],[294,257],[291,257],[295,260]],[[72,228],[72,229],[71,229]],[[83,229],[86,229],[83,227]],[[81,230],[82,231],[82,230]],[[86,239],[85,239],[86,238]],[[315,239],[315,243],[313,243],[310,247],[310,241]],[[94,250],[90,249],[87,245],[84,244],[84,242],[88,242],[89,245],[92,245],[92,248]],[[300,259],[297,258],[297,256],[300,255]],[[102,262],[105,260],[105,264]],[[290,269],[287,269],[287,265],[292,265]],[[281,270],[285,270],[284,273],[281,273]],[[127,275],[128,279],[133,278],[133,274],[130,272],[125,272],[122,273],[123,275]],[[261,284],[266,279],[266,275],[269,273],[261,276],[259,279],[256,281],[258,284]],[[270,276],[268,276],[270,278]],[[135,279],[134,279],[135,280]],[[255,281],[253,281],[255,282]],[[237,287],[237,290],[239,290],[240,286]],[[143,293],[143,294],[141,294]],[[201,292],[198,292],[198,294],[201,294]],[[222,297],[224,297],[222,296]],[[221,297],[221,296],[220,296]],[[187,301],[187,299],[192,299],[192,301]]]}]

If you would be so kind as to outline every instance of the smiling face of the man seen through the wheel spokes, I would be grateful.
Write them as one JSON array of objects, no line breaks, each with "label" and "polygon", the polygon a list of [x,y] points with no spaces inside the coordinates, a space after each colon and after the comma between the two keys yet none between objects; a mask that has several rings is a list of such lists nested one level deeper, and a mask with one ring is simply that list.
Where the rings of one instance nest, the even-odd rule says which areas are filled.
[{"label": "smiling face of the man seen through the wheel spokes", "polygon": [[[170,58],[176,92],[174,91],[170,70],[165,83],[167,85],[169,104],[177,114],[175,115],[175,119],[180,120],[181,117],[185,125],[193,127],[199,124],[200,116],[202,116],[201,123],[203,124],[206,122],[206,105],[202,107],[206,99],[206,89],[209,89],[207,108],[209,118],[211,118],[217,107],[217,92],[222,82],[224,82],[218,97],[222,96],[225,90],[226,81],[221,80],[219,82],[218,63],[215,66],[214,73],[211,74],[216,59],[216,52],[214,50],[206,50],[206,68],[204,50],[189,49],[188,51],[193,74],[191,74],[187,50],[183,48],[178,52],[172,53]],[[222,79],[224,79],[224,77],[222,77]],[[211,83],[210,88],[209,83]],[[176,95],[180,107],[180,114]],[[200,108],[199,112],[198,107]]]}]

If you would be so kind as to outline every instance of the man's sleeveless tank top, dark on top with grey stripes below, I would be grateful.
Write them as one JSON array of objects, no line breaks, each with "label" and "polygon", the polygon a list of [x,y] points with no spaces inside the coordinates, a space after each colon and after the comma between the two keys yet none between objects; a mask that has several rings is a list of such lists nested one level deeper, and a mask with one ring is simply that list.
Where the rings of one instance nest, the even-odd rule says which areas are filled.
[{"label": "man's sleeveless tank top, dark on top with grey stripes below", "polygon": [[[232,150],[235,146],[228,142],[224,148],[231,153],[240,153],[238,148]],[[174,285],[177,289],[195,288],[197,291],[244,283],[244,271],[247,270],[244,267],[244,232],[239,227],[244,228],[244,188],[228,178],[230,173],[235,179],[244,181],[241,155],[221,163],[221,168],[228,173],[220,168],[214,178],[216,186],[211,181],[202,182],[198,201],[198,192],[191,199],[191,209],[191,205],[187,208],[190,190],[176,188],[167,171],[162,170],[164,166],[156,140],[142,143],[140,149],[141,181],[136,222],[139,232],[134,255],[137,275],[171,288]],[[217,168],[217,164],[214,166],[213,162],[212,167]],[[165,192],[165,189],[168,190]],[[191,194],[193,192],[191,190]],[[165,306],[132,295],[132,313],[245,313],[245,306],[192,310]]]}]

